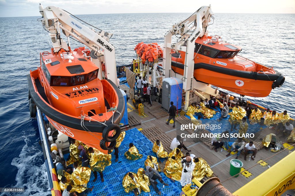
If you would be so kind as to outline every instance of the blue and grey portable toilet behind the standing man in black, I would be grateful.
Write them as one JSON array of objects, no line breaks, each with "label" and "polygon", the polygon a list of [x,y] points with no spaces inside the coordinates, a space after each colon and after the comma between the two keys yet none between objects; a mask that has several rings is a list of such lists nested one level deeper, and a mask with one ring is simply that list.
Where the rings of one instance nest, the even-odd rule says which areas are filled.
[{"label": "blue and grey portable toilet behind the standing man in black", "polygon": [[181,109],[182,102],[182,87],[181,79],[170,77],[163,79],[162,83],[162,107],[166,110],[170,107],[170,102],[173,102],[176,109]]}]

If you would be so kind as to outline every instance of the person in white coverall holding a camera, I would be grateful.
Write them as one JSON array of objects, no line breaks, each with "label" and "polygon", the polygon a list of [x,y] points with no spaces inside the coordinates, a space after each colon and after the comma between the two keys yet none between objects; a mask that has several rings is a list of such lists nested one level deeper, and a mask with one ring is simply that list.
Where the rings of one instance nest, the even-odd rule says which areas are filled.
[{"label": "person in white coverall holding a camera", "polygon": [[196,164],[193,162],[190,156],[185,157],[181,161],[181,163],[183,167],[182,167],[180,184],[182,187],[184,187],[185,185],[191,183],[191,177],[193,176],[193,171]]}]

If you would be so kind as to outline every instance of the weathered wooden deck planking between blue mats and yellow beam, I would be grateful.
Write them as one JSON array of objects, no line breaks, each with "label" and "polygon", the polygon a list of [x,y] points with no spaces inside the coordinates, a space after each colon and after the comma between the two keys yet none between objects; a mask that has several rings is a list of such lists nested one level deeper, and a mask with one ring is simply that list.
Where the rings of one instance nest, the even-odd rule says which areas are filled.
[{"label": "weathered wooden deck planking between blue mats and yellow beam", "polygon": [[[155,102],[155,104],[154,104],[154,102],[153,102],[153,107],[150,107],[150,105],[145,106],[145,108],[144,108],[145,113],[149,115],[148,117],[145,117],[145,118],[140,118],[140,116],[138,116],[138,114],[136,114],[135,112],[129,112],[129,113],[131,113],[135,119],[142,121],[142,124],[140,126],[137,126],[137,128],[143,128],[143,130],[141,132],[153,143],[155,142],[156,139],[160,139],[160,141],[162,142],[162,144],[164,146],[164,149],[169,153],[169,152],[171,152],[171,149],[170,149],[171,141],[174,137],[176,137],[176,132],[177,132],[176,130],[177,129],[179,130],[181,124],[190,123],[190,120],[185,116],[177,117],[176,118],[176,130],[174,130],[175,128],[173,128],[173,124],[169,124],[169,125],[165,124],[166,119],[168,119],[167,112],[165,112],[165,116],[158,117],[158,118],[156,118],[154,115],[151,115],[151,114],[153,114],[153,109],[155,108],[155,106],[158,106],[160,108],[161,104],[158,104],[157,102]],[[161,110],[163,110],[163,109],[161,109]],[[137,110],[135,110],[135,111],[137,111]],[[147,122],[145,122],[145,121],[147,121]],[[171,131],[171,130],[173,130],[173,131]],[[168,131],[171,131],[171,132],[168,132]],[[188,133],[191,133],[192,130],[185,130],[185,131]],[[166,132],[168,132],[168,133],[166,133]],[[210,133],[210,132],[207,130],[201,130],[200,133]],[[239,160],[241,160],[244,164],[243,167],[245,169],[247,169],[249,172],[251,172],[253,174],[253,176],[246,178],[242,175],[239,175],[239,177],[237,177],[237,178],[232,178],[232,179],[227,180],[226,182],[222,183],[222,185],[225,188],[227,188],[230,192],[235,192],[240,187],[245,185],[247,182],[254,179],[258,175],[260,175],[262,172],[264,172],[268,169],[267,166],[262,167],[261,165],[256,165],[255,167],[253,167],[251,169],[248,169],[248,168],[257,164],[256,161],[258,161],[260,159],[264,160],[264,159],[276,154],[276,152],[270,152],[270,151],[264,150],[262,143],[260,141],[260,138],[264,138],[267,134],[270,134],[270,133],[275,133],[275,130],[265,128],[255,134],[255,137],[253,138],[254,144],[258,149],[262,149],[262,150],[258,151],[255,161],[253,161],[253,160],[248,161],[249,155],[247,156],[246,161],[244,160],[243,154],[241,154],[239,156]],[[184,142],[184,144],[186,145],[186,147],[188,147],[191,144],[194,144],[194,142]],[[213,150],[210,150],[208,146],[211,146],[211,138],[201,138],[201,143],[198,143],[192,147],[189,147],[189,149],[192,150],[191,154],[196,155],[196,157],[204,158],[210,166],[212,166],[218,162],[221,162],[220,164],[218,164],[212,168],[212,170],[214,172],[214,176],[217,175],[217,177],[221,181],[226,180],[227,178],[231,177],[229,174],[230,159],[235,158],[235,156],[230,159],[225,160],[227,158],[225,156],[228,153],[227,151],[224,150],[223,152],[220,152],[220,150],[219,150],[218,152],[214,152]],[[292,151],[294,151],[294,150],[295,150],[295,148]],[[186,151],[183,150],[183,153],[185,153],[185,152]],[[288,155],[288,151],[285,151],[285,152],[279,153],[278,155],[276,155],[273,158],[270,158],[269,160],[266,160],[266,162],[270,166],[272,166],[287,155]],[[160,168],[162,171],[163,171],[164,167],[165,167],[165,161],[162,164],[160,164]],[[203,180],[205,181],[207,179],[208,179],[208,177],[204,177]]]}]

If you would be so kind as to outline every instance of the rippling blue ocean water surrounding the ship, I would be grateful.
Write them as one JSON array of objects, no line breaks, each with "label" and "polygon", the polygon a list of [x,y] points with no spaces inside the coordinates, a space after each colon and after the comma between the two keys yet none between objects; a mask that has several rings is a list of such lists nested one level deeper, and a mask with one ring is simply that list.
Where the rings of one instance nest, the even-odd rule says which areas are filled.
[{"label": "rippling blue ocean water surrounding the ship", "polygon": [[[37,7],[36,7],[37,10]],[[69,11],[69,10],[68,10]],[[213,10],[214,11],[214,10]],[[163,44],[171,25],[189,13],[80,15],[113,33],[117,65],[135,58],[137,43]],[[285,77],[283,87],[268,97],[247,99],[295,117],[295,14],[215,14],[210,35],[241,46],[240,55],[274,67]],[[50,195],[37,121],[30,118],[26,75],[40,64],[39,52],[50,51],[40,17],[0,18],[0,187],[25,187],[22,195]],[[71,40],[71,47],[81,46]],[[11,194],[18,195],[18,194]]]}]

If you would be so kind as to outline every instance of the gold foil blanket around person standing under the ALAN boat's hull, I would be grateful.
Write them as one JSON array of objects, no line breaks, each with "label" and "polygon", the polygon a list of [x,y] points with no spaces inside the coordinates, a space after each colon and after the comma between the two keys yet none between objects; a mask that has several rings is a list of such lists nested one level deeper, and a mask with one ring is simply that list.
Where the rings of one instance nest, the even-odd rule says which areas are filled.
[{"label": "gold foil blanket around person standing under the ALAN boat's hull", "polygon": [[100,152],[99,150],[93,149],[94,153],[90,153],[90,168],[92,171],[96,172],[102,172],[104,171],[104,168],[106,166],[109,166],[112,164],[112,155],[110,154],[104,154]]}]

